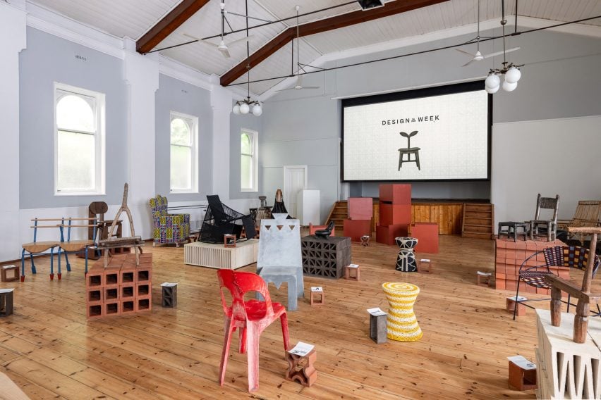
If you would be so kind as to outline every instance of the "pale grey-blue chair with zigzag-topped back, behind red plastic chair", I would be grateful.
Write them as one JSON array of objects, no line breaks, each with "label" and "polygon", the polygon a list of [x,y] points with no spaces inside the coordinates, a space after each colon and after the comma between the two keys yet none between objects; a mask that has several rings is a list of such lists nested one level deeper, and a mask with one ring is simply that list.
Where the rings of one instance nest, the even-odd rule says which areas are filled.
[{"label": "pale grey-blue chair with zigzag-topped back, behind red plastic chair", "polygon": [[304,297],[301,224],[287,220],[288,214],[274,214],[273,220],[261,220],[257,274],[277,289],[288,282],[288,310],[296,311],[297,297]]}]

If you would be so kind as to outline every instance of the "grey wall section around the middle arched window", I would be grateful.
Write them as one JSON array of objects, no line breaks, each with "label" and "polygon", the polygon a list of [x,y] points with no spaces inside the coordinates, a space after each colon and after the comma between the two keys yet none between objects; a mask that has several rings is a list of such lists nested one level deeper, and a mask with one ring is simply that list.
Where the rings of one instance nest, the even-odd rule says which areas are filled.
[{"label": "grey wall section around the middle arched window", "polygon": [[[177,111],[198,117],[198,194],[169,193],[170,113]],[[212,194],[212,108],[211,93],[166,75],[159,75],[155,94],[155,179],[157,194],[171,201],[206,200]]]}]

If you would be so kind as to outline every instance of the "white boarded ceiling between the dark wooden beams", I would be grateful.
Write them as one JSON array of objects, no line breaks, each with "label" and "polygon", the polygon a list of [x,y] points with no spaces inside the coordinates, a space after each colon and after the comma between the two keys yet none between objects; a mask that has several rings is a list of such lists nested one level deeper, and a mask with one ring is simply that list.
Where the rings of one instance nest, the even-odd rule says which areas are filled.
[{"label": "white boarded ceiling between the dark wooden beams", "polygon": [[[180,2],[180,0],[31,1],[116,37],[131,37],[133,39],[139,39]],[[265,20],[277,20],[296,15],[294,9],[296,4],[301,6],[301,13],[310,13],[321,8],[345,3],[348,3],[348,0],[248,0],[248,15]],[[477,4],[478,0],[450,0],[407,13],[391,15],[386,18],[303,37],[301,38],[300,61],[309,64],[322,55],[338,51],[470,25],[478,21]],[[302,17],[301,23],[359,9],[358,4],[347,4]],[[245,14],[245,2],[242,0],[228,0],[226,1],[226,11]],[[506,1],[505,13],[506,15],[515,13],[515,1]],[[562,22],[578,20],[601,15],[601,0],[519,0],[518,15]],[[499,20],[501,18],[501,1],[480,0],[480,20],[494,18]],[[245,27],[245,18],[243,17],[230,14],[228,19],[233,30]],[[250,20],[251,27],[259,24],[261,24],[260,21]],[[601,18],[587,21],[585,24],[601,26]],[[293,18],[250,30],[250,34],[253,35],[250,40],[250,53],[252,54],[260,49],[287,27],[295,25],[296,18]],[[171,33],[169,37],[166,37],[156,49],[190,41],[183,33],[197,37],[207,37],[217,35],[220,32],[219,0],[210,0],[209,4],[201,8],[186,23],[183,23],[175,32]],[[245,37],[245,32],[227,35],[225,42],[229,43],[241,37]],[[218,38],[210,41],[215,44],[219,43]],[[223,75],[234,65],[245,59],[245,43],[231,46],[229,52],[231,58],[224,58],[217,49],[211,46],[193,43],[161,51],[161,54],[200,70],[202,73]],[[290,73],[291,44],[289,43],[253,68],[250,71],[250,79],[260,80],[289,75]],[[243,76],[236,82],[245,82],[245,80],[246,77]],[[261,94],[276,85],[277,82],[279,80],[253,83],[250,89],[256,94]]]}]

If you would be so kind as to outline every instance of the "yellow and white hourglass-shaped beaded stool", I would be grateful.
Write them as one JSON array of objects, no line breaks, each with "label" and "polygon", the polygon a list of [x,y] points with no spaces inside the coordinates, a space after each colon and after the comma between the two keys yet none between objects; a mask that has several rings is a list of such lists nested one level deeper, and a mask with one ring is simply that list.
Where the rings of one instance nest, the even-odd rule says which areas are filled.
[{"label": "yellow and white hourglass-shaped beaded stool", "polygon": [[399,342],[415,342],[423,333],[413,313],[413,304],[420,288],[411,283],[386,282],[382,284],[388,300],[388,338]]}]

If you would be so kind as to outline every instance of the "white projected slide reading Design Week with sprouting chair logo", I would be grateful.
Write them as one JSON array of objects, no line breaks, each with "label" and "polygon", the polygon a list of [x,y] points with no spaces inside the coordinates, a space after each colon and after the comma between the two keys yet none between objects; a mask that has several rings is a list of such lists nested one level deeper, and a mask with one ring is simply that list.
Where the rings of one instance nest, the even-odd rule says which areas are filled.
[{"label": "white projected slide reading Design Week with sprouting chair logo", "polygon": [[[487,179],[487,96],[478,90],[345,107],[344,180]],[[408,150],[399,132],[413,131]],[[401,155],[411,162],[399,168]]]}]

